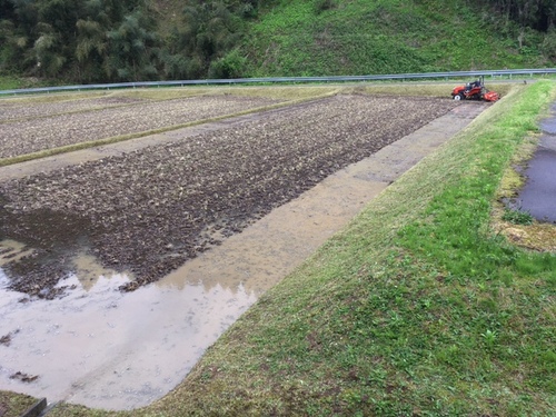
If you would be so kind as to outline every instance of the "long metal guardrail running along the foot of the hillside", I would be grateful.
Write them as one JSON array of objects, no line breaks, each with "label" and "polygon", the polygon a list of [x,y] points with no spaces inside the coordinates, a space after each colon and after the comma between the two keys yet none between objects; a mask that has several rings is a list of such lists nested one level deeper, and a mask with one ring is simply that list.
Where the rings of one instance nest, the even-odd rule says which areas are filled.
[{"label": "long metal guardrail running along the foot of the hillside", "polygon": [[388,80],[418,80],[418,79],[449,79],[466,77],[508,77],[514,76],[546,76],[556,73],[556,68],[494,70],[494,71],[453,71],[424,73],[395,73],[383,76],[338,76],[338,77],[269,77],[269,78],[235,78],[180,81],[139,81],[117,82],[106,85],[83,85],[62,87],[38,87],[14,90],[0,90],[0,96],[24,95],[37,92],[81,91],[81,90],[111,90],[121,88],[143,87],[185,87],[185,86],[218,86],[218,85],[255,85],[255,83],[309,83],[309,82],[357,82],[357,81],[388,81]]}]

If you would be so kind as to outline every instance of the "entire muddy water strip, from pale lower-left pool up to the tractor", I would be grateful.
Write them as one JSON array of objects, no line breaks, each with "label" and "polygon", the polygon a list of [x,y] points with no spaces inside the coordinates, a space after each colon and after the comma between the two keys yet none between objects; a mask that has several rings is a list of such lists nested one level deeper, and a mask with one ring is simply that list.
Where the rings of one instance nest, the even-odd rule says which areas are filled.
[{"label": "entire muddy water strip, from pale lower-left pool up to the tractor", "polygon": [[133,292],[117,290],[126,275],[77,254],[66,297],[29,299],[6,290],[0,264],[0,389],[109,409],[160,398],[258,296],[483,109],[457,107]]}]

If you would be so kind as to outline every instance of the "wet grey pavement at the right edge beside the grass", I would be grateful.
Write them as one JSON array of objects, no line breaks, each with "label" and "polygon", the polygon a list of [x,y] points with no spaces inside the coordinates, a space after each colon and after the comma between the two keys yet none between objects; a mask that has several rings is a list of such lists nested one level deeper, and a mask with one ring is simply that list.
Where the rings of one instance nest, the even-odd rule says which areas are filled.
[{"label": "wet grey pavement at the right edge beside the grass", "polygon": [[535,219],[556,222],[556,105],[552,115],[540,121],[539,145],[524,175],[527,178],[510,206],[528,211]]}]

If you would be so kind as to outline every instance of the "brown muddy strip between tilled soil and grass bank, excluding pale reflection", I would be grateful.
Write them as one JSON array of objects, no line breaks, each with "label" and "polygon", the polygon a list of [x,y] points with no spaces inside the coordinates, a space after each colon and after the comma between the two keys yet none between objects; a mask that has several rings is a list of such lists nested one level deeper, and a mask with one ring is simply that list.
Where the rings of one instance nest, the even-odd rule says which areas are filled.
[{"label": "brown muddy strip between tilled soil and grass bank, excluding pale reflection", "polygon": [[465,129],[488,105],[463,103],[274,209],[241,234],[188,260],[162,282],[226,282],[260,295],[290,274],[404,172]]}]

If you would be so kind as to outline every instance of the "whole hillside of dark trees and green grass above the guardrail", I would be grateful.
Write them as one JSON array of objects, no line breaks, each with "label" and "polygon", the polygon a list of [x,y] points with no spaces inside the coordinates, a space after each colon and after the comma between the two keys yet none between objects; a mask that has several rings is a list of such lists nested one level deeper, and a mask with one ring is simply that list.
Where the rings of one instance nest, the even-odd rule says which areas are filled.
[{"label": "whole hillside of dark trees and green grass above the guardrail", "polygon": [[0,73],[50,83],[556,60],[556,4],[548,0],[0,0]]}]

